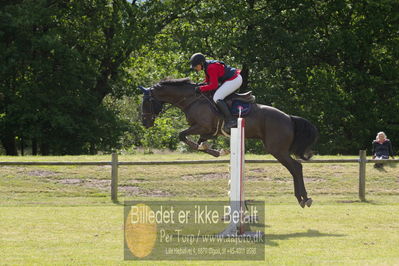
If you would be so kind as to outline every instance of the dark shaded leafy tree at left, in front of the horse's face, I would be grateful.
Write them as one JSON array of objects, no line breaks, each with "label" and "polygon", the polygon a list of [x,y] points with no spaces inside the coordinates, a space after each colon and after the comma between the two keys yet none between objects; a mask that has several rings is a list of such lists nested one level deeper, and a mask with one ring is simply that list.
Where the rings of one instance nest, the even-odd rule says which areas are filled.
[{"label": "dark shaded leafy tree at left, in front of the horse's face", "polygon": [[[117,148],[126,127],[103,105],[130,93],[134,51],[180,12],[173,2],[7,1],[0,9],[1,142],[35,153]],[[167,11],[165,11],[167,10]],[[162,16],[167,12],[167,16]]]}]

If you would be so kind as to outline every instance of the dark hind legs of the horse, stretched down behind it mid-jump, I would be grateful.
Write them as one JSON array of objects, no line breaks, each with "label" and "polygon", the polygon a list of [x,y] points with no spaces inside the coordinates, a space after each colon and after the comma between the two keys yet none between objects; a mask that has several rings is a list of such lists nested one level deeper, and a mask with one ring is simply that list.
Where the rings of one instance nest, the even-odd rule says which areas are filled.
[{"label": "dark hind legs of the horse, stretched down behind it mid-jump", "polygon": [[274,156],[291,173],[294,179],[294,193],[298,203],[302,208],[304,208],[305,205],[310,207],[312,205],[312,199],[308,198],[308,194],[306,192],[305,183],[303,181],[302,164],[292,159],[288,153],[284,155],[276,154]]}]

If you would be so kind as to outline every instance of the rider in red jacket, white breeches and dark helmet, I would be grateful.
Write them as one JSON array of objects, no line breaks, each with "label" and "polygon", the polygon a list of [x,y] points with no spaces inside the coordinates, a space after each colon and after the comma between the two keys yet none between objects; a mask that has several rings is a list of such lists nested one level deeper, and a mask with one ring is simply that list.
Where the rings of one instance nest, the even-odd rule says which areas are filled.
[{"label": "rider in red jacket, white breeches and dark helmet", "polygon": [[[241,70],[230,67],[217,60],[206,60],[201,53],[195,53],[190,59],[191,69],[199,72],[204,70],[206,85],[195,88],[197,93],[216,90],[213,101],[224,116],[224,130],[237,127],[237,120],[233,118],[224,98],[238,90],[242,84]],[[220,85],[220,87],[219,87]]]}]

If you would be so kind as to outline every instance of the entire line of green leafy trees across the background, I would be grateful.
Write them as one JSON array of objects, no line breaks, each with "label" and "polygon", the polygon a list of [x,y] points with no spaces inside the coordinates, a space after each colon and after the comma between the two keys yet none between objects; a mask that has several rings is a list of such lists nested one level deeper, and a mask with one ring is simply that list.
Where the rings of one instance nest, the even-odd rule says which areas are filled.
[{"label": "entire line of green leafy trees across the background", "polygon": [[136,87],[202,81],[195,52],[241,68],[259,103],[315,124],[318,153],[355,154],[381,130],[396,146],[398,14],[395,0],[2,1],[4,153],[181,148],[183,114],[144,130]]}]

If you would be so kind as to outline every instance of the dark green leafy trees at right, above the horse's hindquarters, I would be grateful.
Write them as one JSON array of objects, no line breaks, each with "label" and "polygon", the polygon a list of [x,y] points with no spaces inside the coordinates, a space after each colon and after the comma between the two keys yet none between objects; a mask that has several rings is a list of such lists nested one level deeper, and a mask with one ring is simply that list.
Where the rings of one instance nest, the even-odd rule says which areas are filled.
[{"label": "dark green leafy trees at right, above the horse's hindquarters", "polygon": [[[398,131],[397,1],[201,1],[164,31],[238,65],[262,103],[310,119],[320,153]],[[370,121],[373,121],[371,124]]]}]

